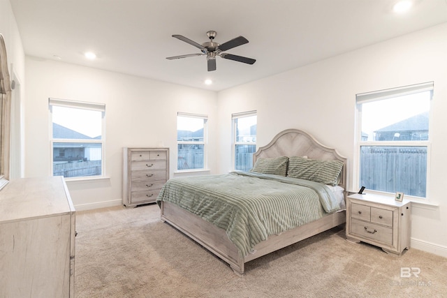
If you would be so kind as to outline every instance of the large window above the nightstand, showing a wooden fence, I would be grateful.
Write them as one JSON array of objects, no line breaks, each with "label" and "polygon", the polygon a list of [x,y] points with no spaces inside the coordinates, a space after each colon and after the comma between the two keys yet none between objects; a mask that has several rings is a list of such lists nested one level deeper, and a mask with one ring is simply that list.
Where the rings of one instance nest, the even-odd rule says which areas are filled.
[{"label": "large window above the nightstand, showing a wooden fence", "polygon": [[427,197],[432,94],[433,82],[357,94],[360,186]]}]

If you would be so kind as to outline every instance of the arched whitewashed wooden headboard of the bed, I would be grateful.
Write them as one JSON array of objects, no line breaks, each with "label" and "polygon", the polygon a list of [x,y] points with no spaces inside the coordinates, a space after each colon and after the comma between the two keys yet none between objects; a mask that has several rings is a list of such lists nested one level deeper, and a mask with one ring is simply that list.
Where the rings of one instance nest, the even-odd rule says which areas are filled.
[{"label": "arched whitewashed wooden headboard of the bed", "polygon": [[299,129],[287,129],[278,133],[270,143],[260,147],[253,154],[253,164],[260,157],[273,158],[278,156],[307,156],[312,159],[342,161],[339,185],[346,189],[347,158],[341,156],[336,149],[318,142],[312,135]]}]

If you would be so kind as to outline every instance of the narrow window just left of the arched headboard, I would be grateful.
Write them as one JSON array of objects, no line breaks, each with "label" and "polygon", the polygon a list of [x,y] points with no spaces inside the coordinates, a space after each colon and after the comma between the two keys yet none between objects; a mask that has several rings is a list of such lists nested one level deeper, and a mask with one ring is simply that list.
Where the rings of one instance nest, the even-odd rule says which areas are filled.
[{"label": "narrow window just left of the arched headboard", "polygon": [[235,170],[247,172],[256,152],[256,111],[233,114],[232,118]]}]

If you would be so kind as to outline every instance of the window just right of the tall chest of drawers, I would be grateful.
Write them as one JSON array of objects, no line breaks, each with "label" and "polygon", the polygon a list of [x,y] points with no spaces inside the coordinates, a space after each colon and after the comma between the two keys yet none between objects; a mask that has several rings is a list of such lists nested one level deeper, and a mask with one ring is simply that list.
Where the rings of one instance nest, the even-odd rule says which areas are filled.
[{"label": "window just right of the tall chest of drawers", "polygon": [[204,170],[207,166],[205,115],[177,113],[177,170]]}]

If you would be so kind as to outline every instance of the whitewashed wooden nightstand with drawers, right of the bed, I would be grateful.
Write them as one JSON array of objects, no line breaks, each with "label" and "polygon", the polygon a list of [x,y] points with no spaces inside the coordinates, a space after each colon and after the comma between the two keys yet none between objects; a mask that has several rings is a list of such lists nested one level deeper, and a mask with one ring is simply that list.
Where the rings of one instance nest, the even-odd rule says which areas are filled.
[{"label": "whitewashed wooden nightstand with drawers, right of the bed", "polygon": [[346,198],[346,239],[402,255],[410,248],[411,202],[371,193]]}]

